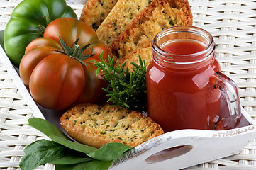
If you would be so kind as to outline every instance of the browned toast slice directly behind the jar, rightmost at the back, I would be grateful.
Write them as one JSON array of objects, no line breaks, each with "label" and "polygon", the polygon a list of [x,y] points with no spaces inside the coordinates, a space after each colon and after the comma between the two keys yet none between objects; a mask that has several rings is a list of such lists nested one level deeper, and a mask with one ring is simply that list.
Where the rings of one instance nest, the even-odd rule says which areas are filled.
[{"label": "browned toast slice directly behind the jar, rightmost at the back", "polygon": [[[121,60],[130,52],[152,42],[157,33],[172,26],[191,26],[187,0],[155,0],[145,8],[108,47],[108,55]],[[137,56],[138,57],[138,56]],[[151,55],[142,55],[149,57]]]}]

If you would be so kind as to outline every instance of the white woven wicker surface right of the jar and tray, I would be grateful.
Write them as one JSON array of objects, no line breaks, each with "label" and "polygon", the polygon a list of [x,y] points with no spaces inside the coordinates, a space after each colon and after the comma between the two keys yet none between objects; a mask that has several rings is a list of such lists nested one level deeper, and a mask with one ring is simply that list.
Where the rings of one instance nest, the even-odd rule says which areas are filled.
[{"label": "white woven wicker surface right of the jar and tray", "polygon": [[[213,35],[221,69],[238,85],[241,105],[256,117],[256,1],[190,1],[194,26]],[[235,141],[234,141],[235,142]],[[240,154],[190,169],[256,169],[256,140]]]}]

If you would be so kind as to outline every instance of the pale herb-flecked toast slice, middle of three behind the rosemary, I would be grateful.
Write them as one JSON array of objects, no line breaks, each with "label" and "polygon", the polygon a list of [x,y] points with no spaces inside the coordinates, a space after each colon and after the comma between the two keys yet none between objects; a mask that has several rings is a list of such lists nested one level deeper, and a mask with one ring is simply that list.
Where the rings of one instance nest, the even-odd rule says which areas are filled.
[{"label": "pale herb-flecked toast slice, middle of three behind the rosemary", "polygon": [[104,42],[106,47],[111,45],[113,40],[150,2],[150,0],[119,0],[96,30],[99,40]]}]

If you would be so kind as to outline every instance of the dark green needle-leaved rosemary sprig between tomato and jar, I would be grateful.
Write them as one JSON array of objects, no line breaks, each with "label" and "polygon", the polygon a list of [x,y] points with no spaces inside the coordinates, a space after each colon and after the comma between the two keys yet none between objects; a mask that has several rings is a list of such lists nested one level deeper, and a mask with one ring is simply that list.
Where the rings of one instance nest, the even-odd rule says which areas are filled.
[{"label": "dark green needle-leaved rosemary sprig between tomato and jar", "polygon": [[96,74],[102,70],[102,76],[108,82],[104,91],[113,104],[121,109],[127,108],[135,111],[146,111],[147,108],[147,89],[146,89],[146,67],[145,60],[139,57],[140,65],[131,62],[135,68],[124,69],[126,62],[119,65],[114,64],[113,58],[108,56],[108,62],[103,60],[102,53],[99,55],[100,62],[94,60],[94,65],[98,67]]}]

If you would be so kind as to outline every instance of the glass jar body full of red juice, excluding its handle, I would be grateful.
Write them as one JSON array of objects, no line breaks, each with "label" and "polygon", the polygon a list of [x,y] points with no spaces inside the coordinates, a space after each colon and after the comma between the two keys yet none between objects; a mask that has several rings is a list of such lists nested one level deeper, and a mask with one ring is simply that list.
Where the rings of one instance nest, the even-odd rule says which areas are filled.
[{"label": "glass jar body full of red juice, excluding its handle", "polygon": [[177,28],[160,32],[152,42],[147,72],[148,116],[165,132],[214,130],[221,121],[215,44],[204,30],[178,28],[180,32],[174,30]]}]

